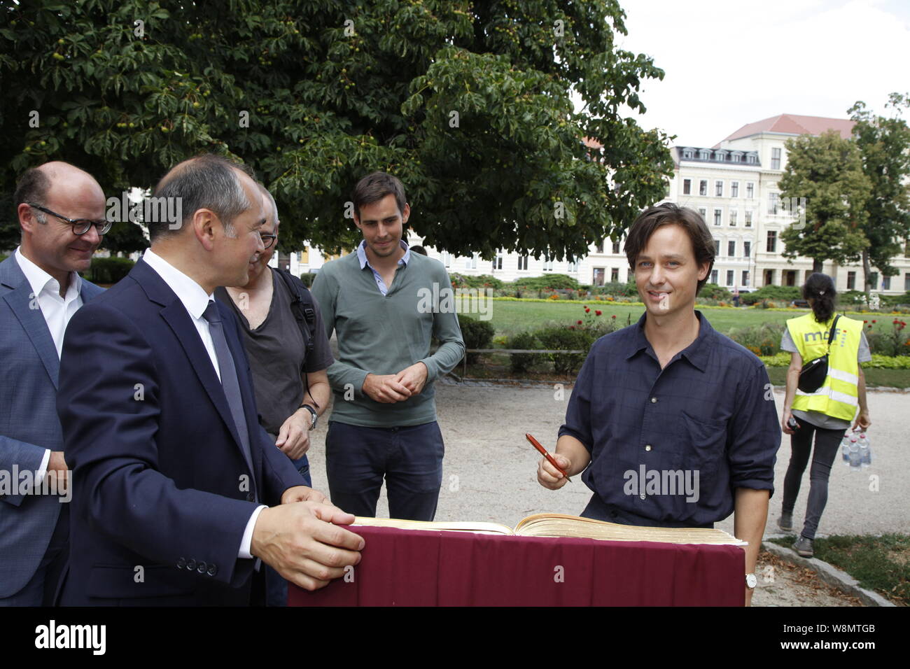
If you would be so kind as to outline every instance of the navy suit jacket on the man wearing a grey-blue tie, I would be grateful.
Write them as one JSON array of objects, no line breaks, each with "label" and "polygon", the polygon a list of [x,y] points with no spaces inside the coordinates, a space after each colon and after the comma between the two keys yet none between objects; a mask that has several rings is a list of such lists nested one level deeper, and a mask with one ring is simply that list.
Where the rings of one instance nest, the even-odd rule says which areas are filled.
[{"label": "navy suit jacket on the man wearing a grey-blue tie", "polygon": [[70,320],[57,411],[73,469],[64,605],[249,603],[258,503],[303,485],[258,423],[238,322],[217,302],[252,471],[192,317],[143,260]]}]

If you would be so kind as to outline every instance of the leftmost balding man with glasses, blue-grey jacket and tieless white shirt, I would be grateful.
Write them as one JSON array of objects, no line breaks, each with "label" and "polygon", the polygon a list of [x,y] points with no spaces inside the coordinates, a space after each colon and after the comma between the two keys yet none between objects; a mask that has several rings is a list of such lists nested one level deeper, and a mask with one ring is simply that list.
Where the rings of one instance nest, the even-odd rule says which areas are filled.
[{"label": "leftmost balding man with glasses, blue-grey jacket and tieless white shirt", "polygon": [[0,605],[40,606],[68,554],[60,352],[69,319],[102,292],[77,272],[110,224],[97,181],[67,163],[26,170],[13,202],[22,240],[0,263]]}]

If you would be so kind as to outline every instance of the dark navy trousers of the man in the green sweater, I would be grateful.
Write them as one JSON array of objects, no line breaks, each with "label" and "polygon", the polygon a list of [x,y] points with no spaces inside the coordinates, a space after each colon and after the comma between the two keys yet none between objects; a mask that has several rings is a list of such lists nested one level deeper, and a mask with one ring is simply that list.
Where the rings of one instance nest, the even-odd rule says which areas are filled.
[{"label": "dark navy trousers of the man in the green sweater", "polygon": [[329,421],[329,496],[343,511],[375,517],[384,477],[392,518],[431,521],[440,498],[444,451],[436,421],[399,428]]}]

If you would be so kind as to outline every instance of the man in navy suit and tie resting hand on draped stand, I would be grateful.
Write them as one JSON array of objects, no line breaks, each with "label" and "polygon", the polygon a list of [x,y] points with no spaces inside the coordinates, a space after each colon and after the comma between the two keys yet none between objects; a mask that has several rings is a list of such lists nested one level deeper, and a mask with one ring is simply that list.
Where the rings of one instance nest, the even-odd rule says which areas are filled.
[{"label": "man in navy suit and tie resting hand on draped stand", "polygon": [[155,197],[182,222],[148,222],[152,248],[64,343],[57,411],[74,491],[61,603],[262,603],[260,559],[321,587],[359,563],[363,540],[259,426],[237,319],[212,298],[247,283],[264,250],[257,185],[200,156]]}]

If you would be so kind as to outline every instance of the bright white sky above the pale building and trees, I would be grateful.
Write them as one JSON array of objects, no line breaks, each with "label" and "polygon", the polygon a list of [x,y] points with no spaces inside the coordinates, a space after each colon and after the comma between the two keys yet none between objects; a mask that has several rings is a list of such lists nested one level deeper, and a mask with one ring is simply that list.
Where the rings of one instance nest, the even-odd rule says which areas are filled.
[{"label": "bright white sky above the pale building and trees", "polygon": [[[910,0],[621,0],[621,48],[666,75],[642,88],[642,127],[710,147],[778,114],[885,114],[910,91]],[[907,115],[905,115],[907,117]]]}]

